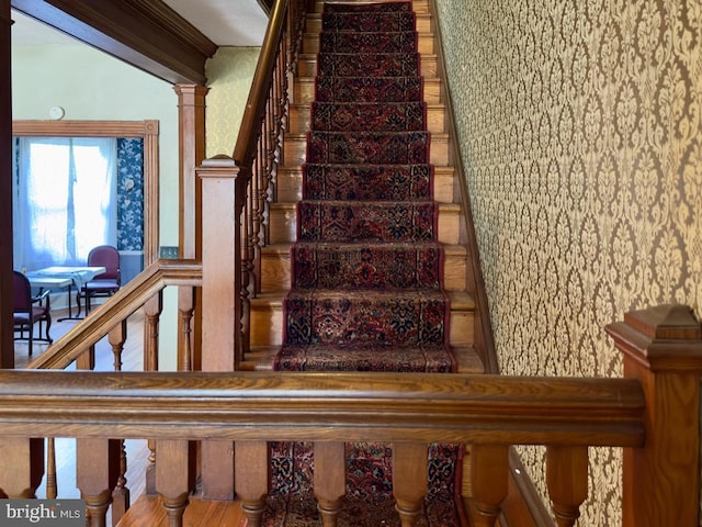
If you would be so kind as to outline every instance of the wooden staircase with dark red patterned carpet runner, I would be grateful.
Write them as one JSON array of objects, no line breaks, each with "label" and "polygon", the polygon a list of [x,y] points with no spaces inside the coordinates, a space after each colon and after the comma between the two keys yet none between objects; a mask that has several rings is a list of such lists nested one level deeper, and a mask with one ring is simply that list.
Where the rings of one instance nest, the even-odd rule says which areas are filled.
[{"label": "wooden staircase with dark red patterned carpet runner", "polygon": [[[375,90],[370,87],[373,82],[373,71],[355,71],[355,68],[366,59],[359,60],[354,58],[354,53],[348,53],[350,49],[369,54],[369,60],[375,64],[376,69],[382,69],[385,55],[376,55],[371,49],[364,48],[363,42],[370,40],[371,47],[377,45],[384,53],[386,48],[393,52],[396,47],[404,46],[403,41],[409,40],[405,38],[399,31],[397,33],[393,31],[390,37],[377,40],[364,38],[363,35],[366,33],[356,33],[352,29],[340,32],[336,38],[327,37],[324,42],[325,47],[320,49],[322,26],[329,33],[328,26],[333,25],[329,22],[329,18],[335,18],[337,14],[327,14],[325,25],[322,21],[325,5],[324,2],[318,2],[317,11],[307,18],[303,53],[297,63],[293,102],[290,106],[290,130],[285,135],[282,166],[278,170],[278,195],[270,209],[270,245],[262,249],[262,292],[251,300],[251,352],[242,365],[245,369],[484,372],[483,361],[474,347],[475,302],[468,293],[469,251],[463,227],[464,210],[458,195],[461,186],[456,181],[456,171],[451,164],[446,108],[442,102],[445,97],[444,87],[439,78],[438,56],[434,54],[433,19],[428,0],[387,3],[393,7],[376,8],[381,16],[384,16],[385,11],[394,12],[401,4],[411,7],[409,14],[414,18],[412,25],[416,34],[410,44],[418,51],[417,64],[420,67],[418,74],[421,76],[420,87],[415,90],[419,94],[417,102],[405,102],[404,99],[395,96],[395,91],[403,90],[397,88],[397,82],[394,80],[388,81],[387,88],[377,90],[375,93]],[[360,5],[362,4],[359,2]],[[335,5],[326,9],[346,11],[349,8]],[[367,5],[360,9],[367,10]],[[339,16],[343,14],[339,13]],[[385,16],[390,16],[394,21],[395,15]],[[364,19],[366,25],[373,25],[371,22],[372,19]],[[390,34],[389,31],[384,33]],[[330,43],[330,40],[335,42]],[[319,55],[320,52],[324,53]],[[359,56],[366,57],[366,55]],[[346,60],[346,64],[333,61],[339,57],[342,61]],[[319,64],[319,60],[324,60],[324,64]],[[399,69],[406,67],[411,69],[411,65],[407,66],[401,58],[398,58],[397,63],[396,67]],[[412,61],[409,60],[409,63]],[[336,76],[337,70],[344,70],[346,74]],[[366,75],[367,78],[365,78]],[[367,102],[363,100],[364,98],[360,98],[363,108],[358,110],[355,103],[359,102],[359,97],[353,82],[346,82],[347,77],[354,78],[359,85],[369,86],[367,91],[375,100]],[[407,83],[409,85],[410,81]],[[341,92],[344,93],[341,94]],[[343,103],[341,110],[330,102],[330,100],[339,102],[339,98]],[[383,106],[383,110],[374,108],[378,105]],[[418,109],[415,105],[421,108]],[[340,117],[335,113],[337,111],[343,112],[344,116]],[[389,117],[387,113],[390,114]],[[346,122],[346,117],[349,117],[349,122]],[[416,119],[417,123],[412,119]],[[343,123],[339,124],[342,121]],[[377,123],[377,121],[382,122]],[[380,124],[380,131],[374,127],[376,124]],[[385,130],[388,126],[389,128]],[[373,145],[365,149],[359,146],[374,135],[371,131],[377,131],[381,142],[388,135],[392,139],[395,139],[396,135],[419,136],[417,141],[421,142],[426,135],[429,137],[429,147],[424,154],[427,158],[418,155],[420,159],[417,162],[429,165],[407,165],[406,167],[406,164],[415,161],[406,160],[404,154],[383,152],[382,146]],[[351,139],[348,138],[349,135],[352,136]],[[329,143],[332,142],[336,142],[335,146],[330,146]],[[392,148],[401,149],[396,143]],[[367,159],[361,150],[370,153]],[[412,148],[407,150],[410,152],[410,156],[415,153]],[[416,150],[422,150],[421,145]],[[385,159],[387,156],[400,159],[397,165],[401,167],[394,165],[378,168],[377,158]],[[348,157],[361,159],[364,162],[362,168],[351,169],[344,165],[349,162],[346,159]],[[304,175],[305,169],[307,171]],[[386,173],[392,171],[395,171],[393,177],[401,180],[401,183],[396,186],[387,183]],[[419,176],[410,184],[411,188],[405,188],[404,184],[415,177],[415,172]],[[378,192],[378,189],[385,193]],[[393,195],[395,193],[398,195],[396,201],[388,199],[390,192]],[[349,199],[351,201],[343,201]],[[401,225],[408,227],[409,234],[397,235],[400,239],[394,245],[381,243],[383,236],[378,234],[378,232],[385,232],[383,222],[389,209],[401,209],[403,217],[409,218],[407,221],[411,223],[411,227]],[[435,218],[433,225],[423,225],[421,218],[416,220],[418,215],[406,212],[406,209],[431,211],[430,217]],[[340,210],[352,212],[337,223],[331,222],[332,225],[321,233],[320,231],[325,231],[325,227],[320,227],[319,224],[324,222],[320,218],[335,214],[330,211],[338,213]],[[373,220],[360,221],[359,225],[349,225],[364,214]],[[419,217],[423,216],[419,214]],[[388,254],[394,256],[387,256]],[[426,268],[416,269],[411,278],[404,274],[394,276],[392,266],[396,262],[390,260],[397,259],[399,254],[403,255],[403,260],[419,260],[426,265],[426,268],[431,266],[438,268],[431,271],[427,271]],[[373,273],[371,278],[359,276],[355,271],[367,264],[367,260],[372,262],[369,265]],[[354,269],[352,271],[344,270],[344,264],[339,264],[349,261],[352,262],[349,266]],[[325,268],[325,265],[328,267]],[[384,267],[386,265],[387,267]],[[329,266],[333,267],[332,271],[327,270]],[[307,269],[312,270],[306,273]],[[382,282],[380,288],[377,284],[367,283],[373,282],[374,279]],[[388,285],[387,282],[393,280],[411,282],[411,284],[409,288],[396,287],[395,283]],[[377,301],[371,300],[378,296]],[[397,301],[397,299],[400,300]],[[407,322],[407,326],[412,328],[424,327],[439,321],[438,328],[432,328],[432,332],[438,335],[434,341],[427,344],[420,336],[412,337],[412,341],[407,344],[404,341],[405,337],[388,330],[382,333],[382,344],[377,344],[376,336],[381,332],[374,332],[374,321],[369,322],[369,319],[374,316],[378,319],[390,318],[393,315],[388,315],[387,312],[393,307],[388,307],[388,304],[395,301],[403,306],[421,305],[426,312],[430,313],[435,305],[440,306],[434,310],[438,310],[438,314],[434,313],[426,318],[422,318],[424,316],[422,313],[418,316],[419,319],[412,318],[414,315],[408,316],[411,318],[409,322],[406,318],[400,319],[401,324]],[[350,306],[351,315],[340,314],[344,311],[341,304],[347,302],[344,307]],[[370,304],[370,307],[364,306],[354,311],[354,305],[361,302]],[[443,313],[445,302],[450,305],[448,315]],[[327,311],[319,307],[322,304]],[[331,307],[328,307],[329,305]],[[314,316],[309,315],[315,312],[319,319],[333,321],[333,323],[346,317],[341,324],[342,329],[329,328],[322,323],[315,325],[314,321],[310,322]],[[297,324],[298,319],[303,321],[303,327]],[[358,330],[349,329],[351,319],[361,326],[356,328]],[[449,332],[448,335],[444,335],[445,329]],[[348,349],[351,347],[348,344],[350,340],[355,343],[360,340],[358,344],[362,349],[356,348],[348,352],[351,351]],[[416,340],[420,343],[417,344]],[[433,463],[435,467],[458,466],[460,468],[463,460],[462,452],[457,451],[460,449],[458,446],[432,446],[430,467]],[[310,471],[301,461],[308,459],[310,455],[312,449],[307,445],[273,444],[274,474],[271,480],[273,500],[269,502],[264,526],[279,525],[279,522],[280,525],[285,526],[316,525],[306,522],[320,522],[312,497],[309,478],[294,475],[295,472]],[[383,525],[394,525],[397,513],[393,508],[392,492],[381,491],[385,485],[392,489],[392,483],[388,483],[388,474],[392,472],[388,468],[390,463],[392,453],[389,450],[386,451],[383,445],[347,444],[347,474],[373,470],[376,475],[375,480],[371,479],[373,480],[371,482],[367,481],[367,475],[364,475],[356,478],[359,481],[348,483],[347,505],[340,515],[340,525],[347,525],[347,523],[362,525],[354,524],[354,522],[364,522],[361,518],[374,518],[378,522],[378,518],[382,518]],[[275,473],[276,467],[288,466],[294,467],[292,474],[281,476]],[[438,469],[438,471],[441,470],[441,468]],[[464,480],[467,481],[467,470],[464,472]],[[286,480],[282,482],[281,479]],[[353,480],[349,475],[347,479]],[[364,495],[365,503],[358,501],[359,492],[351,489],[353,485],[356,489],[377,489],[377,495],[372,500]],[[442,485],[443,483],[438,484],[438,486]],[[453,485],[454,482],[451,481],[449,486],[453,489]],[[467,483],[458,482],[458,486],[466,489]],[[282,491],[281,487],[283,487]],[[294,490],[294,498],[290,495],[281,497],[291,489]],[[386,495],[381,498],[380,495],[384,492]],[[430,495],[432,492],[441,493],[441,491],[432,491],[430,482]],[[360,493],[365,494],[363,491]],[[432,500],[428,502],[428,517],[422,519],[427,525],[434,527],[460,525],[453,507],[446,505],[452,501],[453,491],[450,493],[451,496],[448,500],[445,496],[442,496],[442,500],[435,500],[439,505],[432,505]],[[364,513],[361,514],[361,511]],[[286,519],[281,519],[282,516]]]}]

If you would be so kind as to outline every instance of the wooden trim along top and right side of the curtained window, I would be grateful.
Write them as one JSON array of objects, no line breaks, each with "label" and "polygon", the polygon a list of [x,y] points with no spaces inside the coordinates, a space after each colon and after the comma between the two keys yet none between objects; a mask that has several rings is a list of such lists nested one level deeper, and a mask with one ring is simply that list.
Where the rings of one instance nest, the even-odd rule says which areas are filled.
[{"label": "wooden trim along top and right side of the curtained window", "polygon": [[12,121],[14,137],[144,138],[144,265],[158,258],[158,121]]}]

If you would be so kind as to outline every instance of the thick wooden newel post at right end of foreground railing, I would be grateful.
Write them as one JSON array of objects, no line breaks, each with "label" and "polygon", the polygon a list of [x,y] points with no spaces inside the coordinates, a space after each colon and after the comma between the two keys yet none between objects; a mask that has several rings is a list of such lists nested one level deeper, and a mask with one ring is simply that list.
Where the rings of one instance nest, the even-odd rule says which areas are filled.
[{"label": "thick wooden newel post at right end of foreground railing", "polygon": [[702,327],[688,306],[668,304],[605,329],[646,399],[645,444],[624,449],[622,525],[699,525]]}]

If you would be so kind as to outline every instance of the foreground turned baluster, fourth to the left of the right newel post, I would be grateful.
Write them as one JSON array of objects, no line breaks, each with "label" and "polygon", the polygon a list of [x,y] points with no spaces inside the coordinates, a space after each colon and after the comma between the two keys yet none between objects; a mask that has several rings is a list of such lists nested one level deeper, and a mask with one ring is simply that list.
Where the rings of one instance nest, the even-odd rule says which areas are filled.
[{"label": "foreground turned baluster, fourth to the left of the right newel post", "polygon": [[315,442],[315,497],[325,527],[336,527],[346,494],[343,442]]}]

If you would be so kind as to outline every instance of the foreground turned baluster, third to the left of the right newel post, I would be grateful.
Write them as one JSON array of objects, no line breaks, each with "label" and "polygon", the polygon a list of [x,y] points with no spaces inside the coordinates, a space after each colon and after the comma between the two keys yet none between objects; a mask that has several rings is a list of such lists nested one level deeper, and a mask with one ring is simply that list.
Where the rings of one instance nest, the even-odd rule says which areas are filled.
[{"label": "foreground turned baluster, third to the left of the right newel post", "polygon": [[393,495],[403,527],[412,527],[427,495],[427,445],[393,445]]}]

